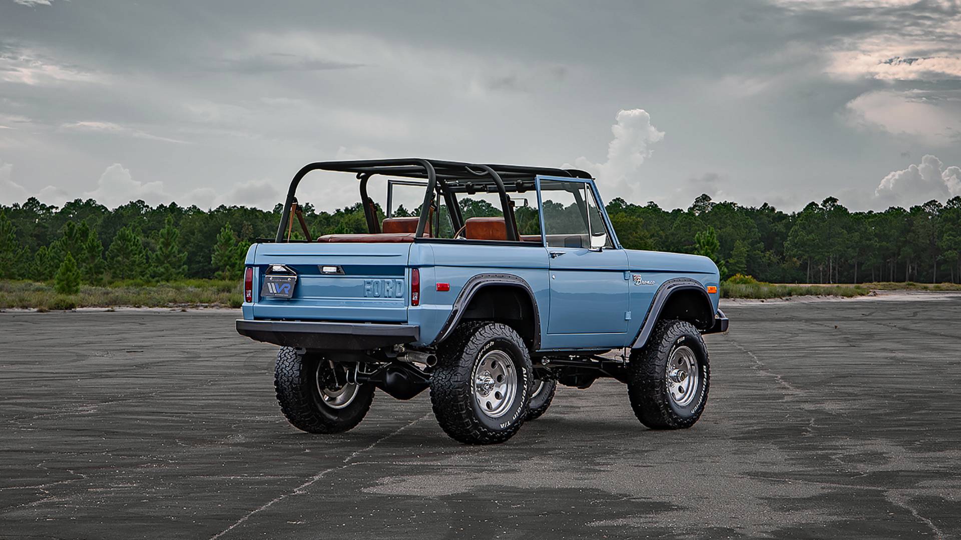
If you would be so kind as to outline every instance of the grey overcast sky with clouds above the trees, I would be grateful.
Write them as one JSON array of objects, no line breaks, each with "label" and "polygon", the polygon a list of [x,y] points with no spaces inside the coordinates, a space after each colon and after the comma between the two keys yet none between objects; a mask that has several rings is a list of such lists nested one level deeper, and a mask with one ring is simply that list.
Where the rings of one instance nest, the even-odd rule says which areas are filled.
[{"label": "grey overcast sky with clouds above the trees", "polygon": [[272,208],[309,161],[402,157],[665,208],[943,202],[961,4],[0,0],[0,203]]}]

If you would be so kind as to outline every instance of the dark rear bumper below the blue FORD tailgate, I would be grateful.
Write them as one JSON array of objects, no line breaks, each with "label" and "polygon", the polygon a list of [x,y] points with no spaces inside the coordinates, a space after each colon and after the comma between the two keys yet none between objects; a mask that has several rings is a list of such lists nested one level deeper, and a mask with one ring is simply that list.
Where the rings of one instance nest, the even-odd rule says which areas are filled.
[{"label": "dark rear bumper below the blue FORD tailgate", "polygon": [[414,325],[237,319],[236,328],[257,341],[318,351],[367,351],[420,339]]}]

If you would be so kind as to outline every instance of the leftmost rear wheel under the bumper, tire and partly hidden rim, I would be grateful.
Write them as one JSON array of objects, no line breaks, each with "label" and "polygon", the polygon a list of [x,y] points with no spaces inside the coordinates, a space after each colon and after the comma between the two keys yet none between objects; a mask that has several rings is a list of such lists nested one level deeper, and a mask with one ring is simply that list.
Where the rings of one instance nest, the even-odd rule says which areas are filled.
[{"label": "leftmost rear wheel under the bumper, tire and partly hidden rim", "polygon": [[274,388],[283,416],[294,428],[310,433],[353,429],[374,400],[372,384],[347,382],[346,365],[291,347],[277,354]]}]

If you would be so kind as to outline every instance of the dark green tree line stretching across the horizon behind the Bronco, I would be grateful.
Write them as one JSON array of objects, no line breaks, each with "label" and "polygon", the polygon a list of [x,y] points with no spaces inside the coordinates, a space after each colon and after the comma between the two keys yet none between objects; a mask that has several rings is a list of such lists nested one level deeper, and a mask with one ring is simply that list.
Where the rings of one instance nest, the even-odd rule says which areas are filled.
[{"label": "dark green tree line stretching across the horizon behind the Bronco", "polygon": [[[707,195],[688,209],[620,198],[606,208],[625,247],[701,254],[718,263],[724,278],[961,281],[961,197],[884,211],[850,211],[829,197],[786,213]],[[93,200],[55,207],[31,198],[0,206],[0,278],[53,281],[63,291],[79,283],[234,280],[248,246],[276,234],[281,209],[135,201],[111,210]],[[313,236],[367,232],[359,203],[333,212],[302,209]]]}]

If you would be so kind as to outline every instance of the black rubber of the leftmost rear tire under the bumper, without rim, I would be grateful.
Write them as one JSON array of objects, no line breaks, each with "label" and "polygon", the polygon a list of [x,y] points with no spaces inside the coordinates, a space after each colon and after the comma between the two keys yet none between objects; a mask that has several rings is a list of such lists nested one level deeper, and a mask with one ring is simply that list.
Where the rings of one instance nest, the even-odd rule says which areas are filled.
[{"label": "black rubber of the leftmost rear tire under the bumper, without rim", "polygon": [[277,353],[274,388],[283,416],[298,430],[308,433],[340,433],[351,430],[363,420],[374,400],[374,386],[360,384],[353,401],[343,408],[324,403],[317,385],[331,368],[322,355],[300,354],[283,347]]}]

